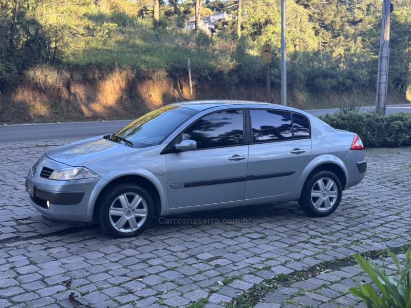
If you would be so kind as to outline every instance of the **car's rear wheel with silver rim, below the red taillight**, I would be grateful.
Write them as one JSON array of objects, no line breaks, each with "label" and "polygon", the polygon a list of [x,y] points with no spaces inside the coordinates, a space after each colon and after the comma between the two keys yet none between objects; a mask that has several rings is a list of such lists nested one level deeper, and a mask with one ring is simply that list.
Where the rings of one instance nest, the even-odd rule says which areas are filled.
[{"label": "car's rear wheel with silver rim, below the red taillight", "polygon": [[337,209],[342,193],[341,182],[333,172],[319,171],[304,185],[298,204],[307,214],[324,217]]}]

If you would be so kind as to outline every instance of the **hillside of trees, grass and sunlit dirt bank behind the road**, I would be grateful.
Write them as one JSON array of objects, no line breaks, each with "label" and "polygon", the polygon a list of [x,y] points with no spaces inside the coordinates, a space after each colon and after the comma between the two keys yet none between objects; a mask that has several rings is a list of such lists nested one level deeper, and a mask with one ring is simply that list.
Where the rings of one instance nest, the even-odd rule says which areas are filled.
[{"label": "hillside of trees, grass and sunlit dirt bank behind the road", "polygon": [[[213,35],[184,30],[193,14],[189,1],[163,4],[153,20],[151,0],[0,0],[2,121],[18,114],[13,110],[26,110],[26,120],[16,121],[30,121],[41,110],[48,110],[41,117],[48,119],[65,104],[77,106],[70,111],[76,117],[121,117],[137,106],[183,99],[264,100],[265,43],[273,48],[270,79],[279,99],[279,0],[242,0],[241,37],[235,30],[238,0],[207,3],[203,14],[233,14]],[[287,0],[289,105],[340,106],[353,97],[373,104],[379,6],[371,0]],[[411,99],[411,14],[405,3],[396,5],[391,23],[388,90],[397,103]],[[186,88],[188,59],[193,95]],[[96,104],[118,112],[84,107]]]}]

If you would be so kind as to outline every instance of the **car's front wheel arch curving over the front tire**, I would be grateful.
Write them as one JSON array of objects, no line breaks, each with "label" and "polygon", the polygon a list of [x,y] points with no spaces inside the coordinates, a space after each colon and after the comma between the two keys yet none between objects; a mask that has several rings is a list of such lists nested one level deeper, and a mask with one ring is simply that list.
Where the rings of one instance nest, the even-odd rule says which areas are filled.
[{"label": "car's front wheel arch curving over the front tire", "polygon": [[154,216],[160,216],[161,197],[160,197],[160,192],[157,189],[156,185],[149,179],[143,176],[140,176],[140,175],[124,175],[124,176],[115,178],[111,180],[110,182],[107,182],[107,184],[100,190],[99,195],[96,198],[96,201],[94,203],[93,217],[97,217],[98,215],[100,206],[102,204],[101,199],[104,196],[105,191],[107,191],[107,189],[110,189],[111,187],[114,187],[115,185],[118,185],[119,183],[133,183],[147,190],[148,194],[150,194],[150,196],[153,199]]}]

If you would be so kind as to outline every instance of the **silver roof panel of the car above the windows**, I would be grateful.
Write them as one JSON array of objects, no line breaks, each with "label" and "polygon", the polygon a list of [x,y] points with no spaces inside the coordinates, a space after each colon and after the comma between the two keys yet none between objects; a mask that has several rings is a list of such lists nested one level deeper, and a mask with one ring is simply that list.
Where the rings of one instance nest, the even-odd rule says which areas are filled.
[{"label": "silver roof panel of the car above the windows", "polygon": [[[237,101],[237,100],[206,100],[206,101],[188,101],[188,102],[180,102],[171,104],[172,106],[178,107],[185,107],[194,109],[197,111],[203,111],[210,108],[215,107],[222,107],[222,106],[230,106],[230,105],[242,105],[241,107],[268,107],[272,106],[276,109],[283,109],[283,110],[296,110],[294,108],[285,107],[282,105],[277,104],[270,104],[270,103],[262,103],[262,102],[254,102],[254,101]],[[239,107],[239,106],[238,106]],[[300,110],[298,110],[300,111]]]}]

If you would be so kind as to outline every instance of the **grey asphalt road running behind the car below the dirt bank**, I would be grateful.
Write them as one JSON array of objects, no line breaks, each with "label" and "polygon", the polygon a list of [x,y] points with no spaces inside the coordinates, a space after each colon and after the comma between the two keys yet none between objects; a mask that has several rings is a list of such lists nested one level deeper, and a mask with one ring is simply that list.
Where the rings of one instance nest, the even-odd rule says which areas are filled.
[{"label": "grey asphalt road running behind the car below the dirt bank", "polygon": [[[372,110],[373,107],[362,107],[362,109]],[[333,113],[338,110],[338,108],[333,108],[305,111],[317,117],[321,114]],[[387,106],[387,114],[396,112],[411,112],[411,104]],[[92,136],[99,136],[101,134],[116,132],[131,121],[132,120],[118,120],[0,126],[0,143],[84,139]]]}]

